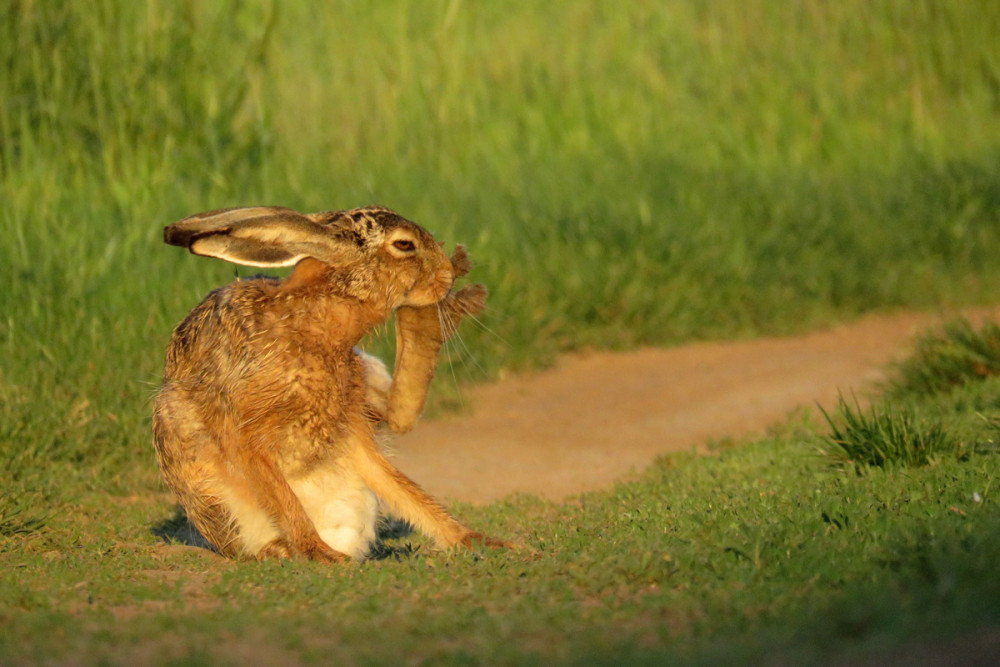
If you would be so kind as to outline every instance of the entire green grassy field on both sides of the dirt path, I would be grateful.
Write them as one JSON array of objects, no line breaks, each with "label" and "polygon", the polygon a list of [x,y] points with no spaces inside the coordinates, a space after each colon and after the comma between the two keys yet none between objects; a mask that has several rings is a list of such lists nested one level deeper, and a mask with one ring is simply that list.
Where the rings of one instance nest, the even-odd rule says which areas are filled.
[{"label": "entire green grassy field on both sides of the dirt path", "polygon": [[[822,419],[578,504],[467,508],[515,555],[157,546],[163,351],[234,275],[162,244],[196,211],[380,203],[465,243],[492,296],[439,397],[568,350],[1000,302],[1000,5],[480,4],[0,0],[0,662],[208,661],[257,628],[303,661],[793,659],[997,622],[973,583],[995,456],[831,472]],[[991,382],[887,405],[974,449]]]}]

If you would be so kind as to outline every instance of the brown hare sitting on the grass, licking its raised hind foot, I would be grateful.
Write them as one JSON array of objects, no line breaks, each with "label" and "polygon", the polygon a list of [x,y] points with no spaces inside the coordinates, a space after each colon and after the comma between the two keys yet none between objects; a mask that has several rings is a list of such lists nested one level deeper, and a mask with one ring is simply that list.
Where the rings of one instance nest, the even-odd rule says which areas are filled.
[{"label": "brown hare sitting on the grass, licking its raised hind foot", "polygon": [[[364,558],[380,503],[437,546],[506,546],[473,532],[398,471],[378,422],[413,426],[438,350],[486,289],[453,291],[470,263],[382,207],[302,214],[208,211],[164,229],[192,253],[284,280],[211,292],[173,332],[154,406],[160,469],[188,518],[236,558]],[[397,316],[395,377],[355,349]]]}]

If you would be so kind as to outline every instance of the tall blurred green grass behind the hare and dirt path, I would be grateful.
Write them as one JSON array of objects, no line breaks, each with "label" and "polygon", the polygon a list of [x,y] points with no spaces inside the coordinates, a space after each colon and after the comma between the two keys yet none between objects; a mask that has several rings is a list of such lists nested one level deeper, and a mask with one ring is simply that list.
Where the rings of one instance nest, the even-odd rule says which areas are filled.
[{"label": "tall blurred green grass behind the hare and dirt path", "polygon": [[0,0],[0,523],[158,484],[164,346],[234,275],[161,243],[200,210],[464,242],[473,379],[996,302],[997,35],[961,0]]}]

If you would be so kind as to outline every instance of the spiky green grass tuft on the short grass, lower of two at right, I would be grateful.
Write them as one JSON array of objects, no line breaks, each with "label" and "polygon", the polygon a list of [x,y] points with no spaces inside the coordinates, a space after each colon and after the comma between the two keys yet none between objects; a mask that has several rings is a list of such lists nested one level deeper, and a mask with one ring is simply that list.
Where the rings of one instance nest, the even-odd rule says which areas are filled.
[{"label": "spiky green grass tuft on the short grass, lower of two at right", "polygon": [[822,407],[820,410],[831,428],[824,453],[858,472],[873,467],[921,467],[968,457],[965,444],[942,424],[918,419],[891,403],[866,412],[856,400],[852,406],[841,396],[837,418]]}]

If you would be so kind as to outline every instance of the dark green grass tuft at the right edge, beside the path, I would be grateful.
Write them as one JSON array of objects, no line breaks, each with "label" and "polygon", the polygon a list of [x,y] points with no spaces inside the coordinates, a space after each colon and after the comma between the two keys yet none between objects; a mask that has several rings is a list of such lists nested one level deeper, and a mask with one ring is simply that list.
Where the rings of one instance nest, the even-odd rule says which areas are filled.
[{"label": "dark green grass tuft at the right edge, beside the path", "polygon": [[893,398],[928,396],[1000,375],[1000,325],[976,329],[965,319],[945,324],[917,342],[890,382]]}]

